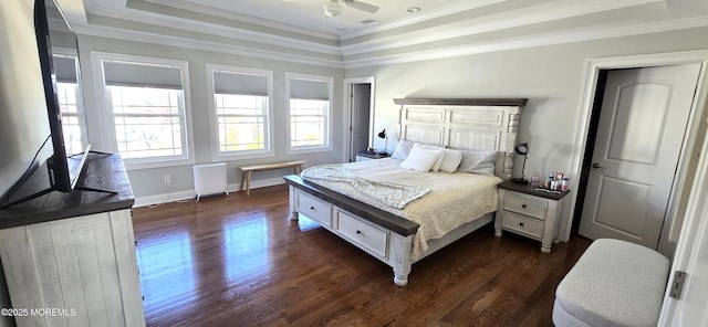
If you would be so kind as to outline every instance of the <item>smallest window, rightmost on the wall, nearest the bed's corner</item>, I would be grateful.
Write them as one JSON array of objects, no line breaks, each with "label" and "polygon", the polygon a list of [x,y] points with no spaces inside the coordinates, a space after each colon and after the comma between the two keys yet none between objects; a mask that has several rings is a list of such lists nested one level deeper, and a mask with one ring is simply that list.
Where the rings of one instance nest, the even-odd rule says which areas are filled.
[{"label": "smallest window, rightmost on the wall, nearest the bed's corner", "polygon": [[288,73],[290,151],[330,149],[332,77]]}]

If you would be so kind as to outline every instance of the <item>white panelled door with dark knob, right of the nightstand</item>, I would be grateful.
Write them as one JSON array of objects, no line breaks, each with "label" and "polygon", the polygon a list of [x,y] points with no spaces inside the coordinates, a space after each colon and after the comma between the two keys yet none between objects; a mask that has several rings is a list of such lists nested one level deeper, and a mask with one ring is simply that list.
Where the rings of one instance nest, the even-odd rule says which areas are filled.
[{"label": "white panelled door with dark knob, right of the nightstand", "polygon": [[580,234],[657,249],[700,64],[611,71]]}]

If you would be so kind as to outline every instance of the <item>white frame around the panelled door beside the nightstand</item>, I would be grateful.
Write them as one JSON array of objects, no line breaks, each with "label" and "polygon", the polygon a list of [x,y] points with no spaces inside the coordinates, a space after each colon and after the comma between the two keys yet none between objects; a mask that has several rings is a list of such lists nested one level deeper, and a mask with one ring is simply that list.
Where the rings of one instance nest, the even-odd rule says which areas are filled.
[{"label": "white frame around the panelled door beside the nightstand", "polygon": [[[659,236],[659,252],[671,257],[674,246],[669,242],[669,231],[667,226],[673,223],[674,214],[676,213],[678,199],[681,197],[681,190],[686,183],[686,170],[688,161],[686,155],[691,152],[697,138],[697,131],[699,127],[698,117],[701,116],[706,106],[706,97],[708,95],[708,83],[705,81],[708,78],[708,51],[687,51],[687,52],[674,52],[674,53],[660,53],[660,54],[645,54],[645,55],[631,55],[618,57],[604,57],[604,59],[591,59],[586,63],[585,68],[585,82],[583,96],[581,97],[581,110],[579,113],[579,123],[576,125],[575,143],[573,144],[573,150],[571,155],[571,176],[576,177],[571,181],[571,188],[577,190],[580,186],[580,176],[583,169],[583,157],[589,141],[590,120],[593,112],[593,105],[595,102],[595,92],[597,89],[597,80],[600,72],[604,70],[617,70],[617,68],[642,68],[650,66],[664,66],[664,65],[680,65],[688,63],[700,63],[701,68],[698,76],[698,84],[696,87],[696,94],[694,95],[694,102],[690,109],[690,116],[688,118],[688,126],[686,134],[684,135],[684,143],[681,146],[681,155],[679,157],[678,169],[676,172],[676,180],[671,187],[671,196],[669,197],[669,205],[667,218],[669,221],[665,221],[665,226],[662,230]],[[560,225],[560,239],[563,242],[570,240],[571,226],[573,224],[573,213],[577,204],[577,192],[574,192],[570,199],[570,205],[563,209],[563,217]],[[580,217],[577,218],[580,219]],[[676,242],[676,240],[673,240]]]}]

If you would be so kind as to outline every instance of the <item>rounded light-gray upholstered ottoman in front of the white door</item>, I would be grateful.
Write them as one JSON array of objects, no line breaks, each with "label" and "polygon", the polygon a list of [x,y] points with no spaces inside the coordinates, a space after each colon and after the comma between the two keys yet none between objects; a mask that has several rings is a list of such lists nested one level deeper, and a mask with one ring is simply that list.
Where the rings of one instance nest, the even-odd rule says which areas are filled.
[{"label": "rounded light-gray upholstered ottoman in front of the white door", "polygon": [[553,324],[656,326],[669,262],[620,240],[594,241],[555,289]]}]

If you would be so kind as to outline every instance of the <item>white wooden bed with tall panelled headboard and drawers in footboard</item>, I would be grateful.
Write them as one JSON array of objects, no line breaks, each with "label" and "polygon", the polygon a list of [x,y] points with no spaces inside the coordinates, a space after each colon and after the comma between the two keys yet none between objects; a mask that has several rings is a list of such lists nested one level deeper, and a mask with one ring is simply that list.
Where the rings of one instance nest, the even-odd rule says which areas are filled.
[{"label": "white wooden bed with tall panelled headboard and drawers in footboard", "polygon": [[[400,105],[402,139],[394,158],[311,167],[284,179],[290,189],[292,220],[304,215],[317,222],[392,266],[394,283],[405,286],[413,263],[493,220],[496,184],[511,177],[520,109],[527,99],[394,102]],[[414,157],[408,158],[414,154],[410,148],[400,156],[399,150],[405,148],[402,145],[406,144],[424,150],[439,147],[467,155],[491,152],[493,173],[403,169],[402,164]],[[416,149],[416,156],[424,150]],[[362,189],[376,193],[366,194]],[[394,201],[382,200],[388,198]]]}]

